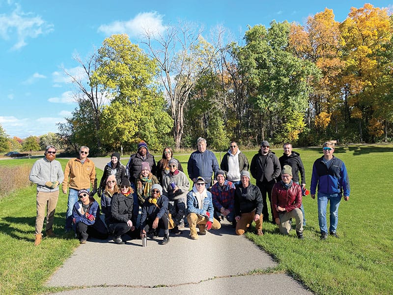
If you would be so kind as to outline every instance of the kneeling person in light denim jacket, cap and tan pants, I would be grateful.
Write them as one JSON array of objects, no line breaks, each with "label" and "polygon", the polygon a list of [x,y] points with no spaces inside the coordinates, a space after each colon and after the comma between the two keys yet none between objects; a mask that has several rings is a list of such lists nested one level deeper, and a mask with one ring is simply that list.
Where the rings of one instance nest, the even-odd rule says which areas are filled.
[{"label": "kneeling person in light denim jacket, cap and tan pants", "polygon": [[221,223],[213,217],[213,211],[212,194],[206,190],[204,178],[198,176],[193,190],[187,194],[187,221],[192,239],[198,238],[197,226],[201,236],[210,229],[221,228]]}]

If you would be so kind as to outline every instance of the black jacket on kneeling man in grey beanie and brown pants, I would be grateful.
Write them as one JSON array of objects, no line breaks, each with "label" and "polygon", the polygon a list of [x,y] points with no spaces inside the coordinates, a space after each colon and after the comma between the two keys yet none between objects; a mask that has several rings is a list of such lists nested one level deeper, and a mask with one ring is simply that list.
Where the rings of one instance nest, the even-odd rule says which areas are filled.
[{"label": "black jacket on kneeling man in grey beanie and brown pants", "polygon": [[259,188],[252,183],[247,187],[247,195],[243,197],[243,185],[235,189],[235,216],[242,213],[250,213],[255,210],[255,214],[261,215],[263,208],[262,194]]}]

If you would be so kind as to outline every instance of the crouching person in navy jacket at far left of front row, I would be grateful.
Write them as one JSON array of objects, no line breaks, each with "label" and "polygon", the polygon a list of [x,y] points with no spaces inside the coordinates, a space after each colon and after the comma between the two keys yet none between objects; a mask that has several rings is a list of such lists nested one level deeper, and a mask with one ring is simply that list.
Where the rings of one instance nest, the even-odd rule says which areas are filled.
[{"label": "crouching person in navy jacket at far left of front row", "polygon": [[87,237],[106,239],[108,231],[100,216],[100,207],[86,189],[78,192],[79,201],[72,210],[73,223],[81,244],[86,243]]}]

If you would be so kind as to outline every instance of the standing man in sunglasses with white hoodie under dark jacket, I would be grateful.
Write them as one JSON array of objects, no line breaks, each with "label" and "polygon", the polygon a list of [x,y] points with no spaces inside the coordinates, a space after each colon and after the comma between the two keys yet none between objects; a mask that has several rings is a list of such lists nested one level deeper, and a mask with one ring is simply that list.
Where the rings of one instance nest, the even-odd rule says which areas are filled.
[{"label": "standing man in sunglasses with white hoodie under dark jacket", "polygon": [[240,174],[243,171],[249,170],[249,161],[246,155],[240,151],[236,142],[230,142],[229,150],[224,155],[220,168],[226,171],[226,179],[231,181],[235,186],[241,182]]}]

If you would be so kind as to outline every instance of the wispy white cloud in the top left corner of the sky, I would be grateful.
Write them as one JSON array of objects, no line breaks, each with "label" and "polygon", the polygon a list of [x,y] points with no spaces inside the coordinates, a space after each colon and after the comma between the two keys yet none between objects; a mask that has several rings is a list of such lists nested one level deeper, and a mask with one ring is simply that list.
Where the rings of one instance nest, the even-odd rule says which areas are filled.
[{"label": "wispy white cloud in the top left corner of the sky", "polygon": [[28,44],[26,40],[29,38],[37,38],[54,30],[53,25],[48,24],[40,16],[23,12],[19,4],[15,6],[15,10],[9,15],[0,14],[0,37],[16,42],[12,50],[26,46]]}]

